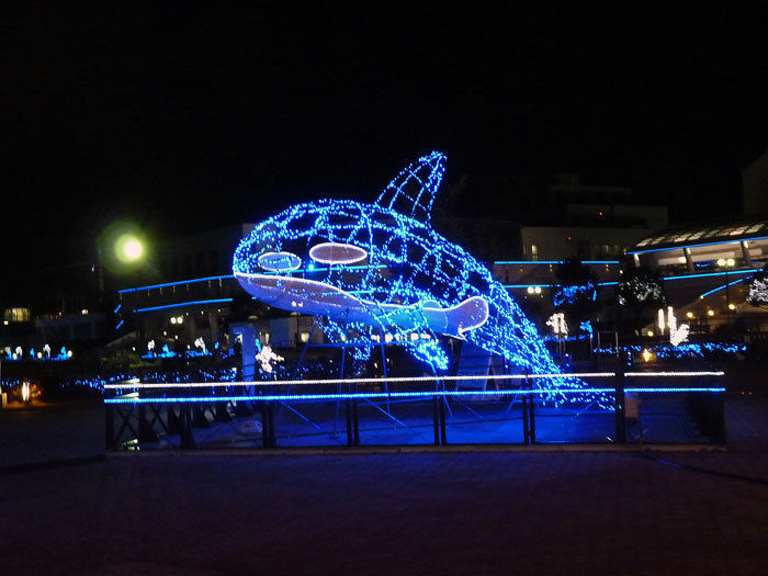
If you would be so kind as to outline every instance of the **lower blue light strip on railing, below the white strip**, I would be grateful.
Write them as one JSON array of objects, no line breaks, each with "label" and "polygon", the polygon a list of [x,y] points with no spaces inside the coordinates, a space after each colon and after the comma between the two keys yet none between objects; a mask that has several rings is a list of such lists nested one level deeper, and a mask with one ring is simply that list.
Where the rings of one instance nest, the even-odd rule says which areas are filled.
[{"label": "lower blue light strip on railing, below the white strip", "polygon": [[[720,394],[722,387],[686,387],[686,388],[624,388],[628,393],[640,394],[674,394],[684,392],[707,392]],[[216,402],[297,402],[297,400],[343,400],[372,398],[432,398],[440,396],[546,396],[567,394],[611,394],[615,388],[546,388],[546,389],[497,389],[497,391],[417,391],[417,392],[357,392],[349,394],[268,394],[263,396],[182,396],[182,397],[148,397],[135,396],[126,398],[105,398],[104,404],[176,404],[176,403],[216,403]]]}]

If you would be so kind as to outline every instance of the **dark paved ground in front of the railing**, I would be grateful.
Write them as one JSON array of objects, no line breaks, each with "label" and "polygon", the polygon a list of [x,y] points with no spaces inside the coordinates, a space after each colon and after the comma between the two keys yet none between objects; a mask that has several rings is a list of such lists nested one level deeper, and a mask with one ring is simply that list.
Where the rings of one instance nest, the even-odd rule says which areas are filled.
[{"label": "dark paved ground in front of the railing", "polygon": [[0,569],[766,574],[768,397],[733,397],[727,421],[727,452],[166,454],[7,468]]}]

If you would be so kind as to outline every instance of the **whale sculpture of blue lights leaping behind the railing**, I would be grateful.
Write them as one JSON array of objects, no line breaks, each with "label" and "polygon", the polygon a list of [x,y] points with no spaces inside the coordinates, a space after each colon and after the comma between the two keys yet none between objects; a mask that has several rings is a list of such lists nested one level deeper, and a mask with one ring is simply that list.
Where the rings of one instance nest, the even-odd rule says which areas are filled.
[{"label": "whale sculpture of blue lights leaping behind the railing", "polygon": [[352,328],[370,347],[397,340],[436,371],[449,364],[437,338],[447,335],[520,371],[558,373],[490,271],[431,227],[444,162],[440,153],[419,158],[374,204],[323,200],[258,224],[235,251],[235,278],[264,303],[325,318],[332,338],[343,339]]}]

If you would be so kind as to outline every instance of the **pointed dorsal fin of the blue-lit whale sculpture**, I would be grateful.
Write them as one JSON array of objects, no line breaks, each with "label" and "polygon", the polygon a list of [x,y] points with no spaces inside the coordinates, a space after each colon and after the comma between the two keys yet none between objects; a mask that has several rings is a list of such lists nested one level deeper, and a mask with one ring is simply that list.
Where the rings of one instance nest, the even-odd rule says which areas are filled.
[{"label": "pointed dorsal fin of the blue-lit whale sculpture", "polygon": [[422,156],[389,182],[376,204],[429,224],[444,170],[444,154],[433,151]]}]

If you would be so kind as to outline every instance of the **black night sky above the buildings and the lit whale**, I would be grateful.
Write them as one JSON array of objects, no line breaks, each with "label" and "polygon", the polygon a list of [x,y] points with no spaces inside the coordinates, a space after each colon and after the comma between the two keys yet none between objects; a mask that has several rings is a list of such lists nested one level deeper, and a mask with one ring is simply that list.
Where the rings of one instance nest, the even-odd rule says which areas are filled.
[{"label": "black night sky above the buildings and the lit whale", "polygon": [[67,4],[3,14],[5,286],[118,218],[162,237],[372,201],[432,149],[482,207],[498,174],[571,171],[675,219],[737,212],[768,149],[765,11]]}]

